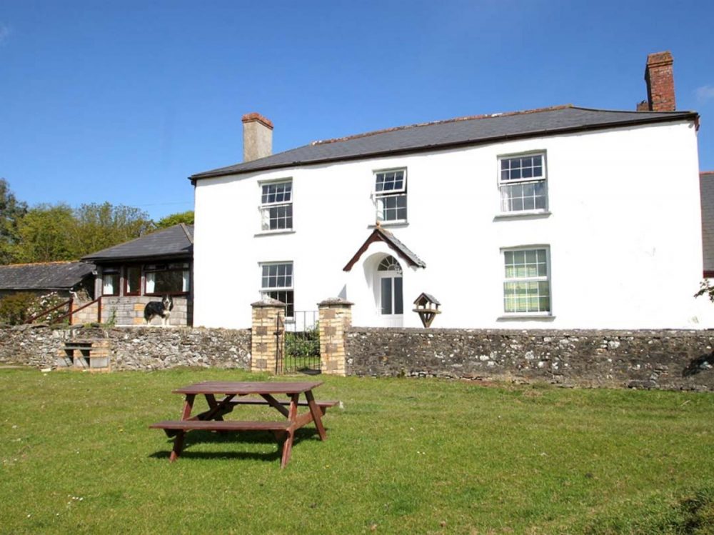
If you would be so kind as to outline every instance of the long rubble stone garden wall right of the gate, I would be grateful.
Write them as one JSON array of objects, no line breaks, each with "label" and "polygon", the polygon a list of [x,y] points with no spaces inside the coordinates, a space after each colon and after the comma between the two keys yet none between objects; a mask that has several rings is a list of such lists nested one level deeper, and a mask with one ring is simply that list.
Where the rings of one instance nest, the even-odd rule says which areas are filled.
[{"label": "long rubble stone garden wall right of the gate", "polygon": [[353,327],[347,374],[714,391],[714,331]]}]

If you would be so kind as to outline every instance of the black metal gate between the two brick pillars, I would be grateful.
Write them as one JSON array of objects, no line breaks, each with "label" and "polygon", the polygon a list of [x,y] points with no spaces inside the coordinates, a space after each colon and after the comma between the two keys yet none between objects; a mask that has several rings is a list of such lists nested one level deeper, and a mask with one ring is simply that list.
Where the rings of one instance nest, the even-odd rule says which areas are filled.
[{"label": "black metal gate between the two brick pillars", "polygon": [[[285,320],[285,349],[280,371],[276,373],[320,373],[320,331],[318,311],[296,310],[293,317]],[[280,329],[278,329],[280,330]],[[278,339],[278,346],[280,346]],[[278,352],[279,355],[279,352]],[[282,364],[282,365],[281,365]]]}]

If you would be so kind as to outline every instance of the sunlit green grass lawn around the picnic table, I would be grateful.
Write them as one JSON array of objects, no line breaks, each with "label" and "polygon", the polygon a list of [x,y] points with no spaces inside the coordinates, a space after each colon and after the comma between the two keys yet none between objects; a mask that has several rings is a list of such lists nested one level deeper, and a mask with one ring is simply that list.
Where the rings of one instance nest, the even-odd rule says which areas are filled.
[{"label": "sunlit green grass lawn around the picnic table", "polygon": [[268,434],[169,464],[148,426],[211,379],[266,377],[0,370],[0,533],[714,533],[714,394],[319,376],[286,469]]}]

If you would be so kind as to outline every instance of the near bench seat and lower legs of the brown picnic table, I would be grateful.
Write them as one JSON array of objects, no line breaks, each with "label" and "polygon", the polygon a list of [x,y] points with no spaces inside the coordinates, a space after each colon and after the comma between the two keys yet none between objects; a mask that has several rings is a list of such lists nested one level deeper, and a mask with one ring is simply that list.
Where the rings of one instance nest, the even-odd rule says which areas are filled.
[{"label": "near bench seat and lower legs of the brown picnic table", "polygon": [[[183,449],[183,439],[186,431],[272,431],[276,440],[290,438],[293,434],[289,421],[231,421],[231,420],[164,420],[151,424],[149,429],[164,429],[166,434],[174,435],[174,449],[171,451],[171,461],[176,461]],[[281,446],[281,466],[288,464],[292,449],[292,441],[286,440]]]}]

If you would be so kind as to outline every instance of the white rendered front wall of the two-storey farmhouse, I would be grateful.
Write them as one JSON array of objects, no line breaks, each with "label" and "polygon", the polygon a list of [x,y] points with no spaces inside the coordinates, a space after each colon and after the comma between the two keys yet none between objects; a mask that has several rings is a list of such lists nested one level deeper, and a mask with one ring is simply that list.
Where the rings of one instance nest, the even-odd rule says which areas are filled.
[{"label": "white rendered front wall of the two-storey farmhouse", "polygon": [[[498,156],[545,151],[550,216],[496,219]],[[375,169],[407,169],[408,225],[389,227],[426,262],[408,268],[372,244]],[[261,234],[261,181],[292,179],[293,233]],[[693,124],[662,124],[202,179],[196,185],[196,326],[243,328],[261,262],[292,261],[295,309],[353,301],[353,324],[381,325],[363,262],[403,266],[404,326],[433,294],[433,327],[638,329],[707,326]],[[503,319],[502,249],[548,246],[552,317]]]}]

